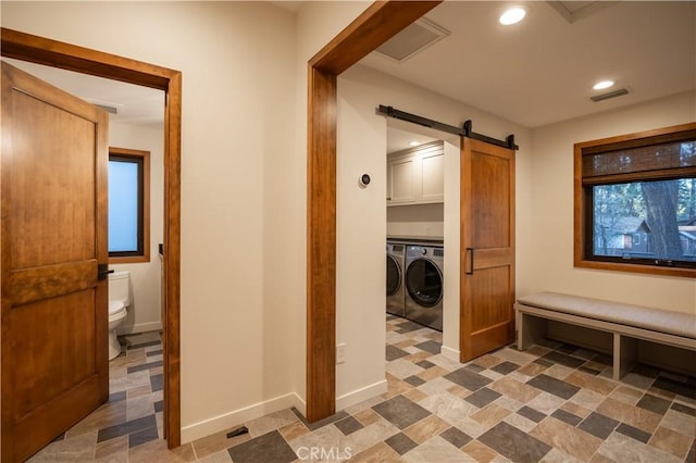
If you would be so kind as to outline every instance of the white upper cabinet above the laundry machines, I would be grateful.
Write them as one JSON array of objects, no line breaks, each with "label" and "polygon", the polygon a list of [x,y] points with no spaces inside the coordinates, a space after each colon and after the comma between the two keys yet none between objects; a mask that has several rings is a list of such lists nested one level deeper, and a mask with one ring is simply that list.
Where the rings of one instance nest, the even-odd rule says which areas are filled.
[{"label": "white upper cabinet above the laundry machines", "polygon": [[387,205],[427,204],[444,200],[442,141],[387,157]]}]

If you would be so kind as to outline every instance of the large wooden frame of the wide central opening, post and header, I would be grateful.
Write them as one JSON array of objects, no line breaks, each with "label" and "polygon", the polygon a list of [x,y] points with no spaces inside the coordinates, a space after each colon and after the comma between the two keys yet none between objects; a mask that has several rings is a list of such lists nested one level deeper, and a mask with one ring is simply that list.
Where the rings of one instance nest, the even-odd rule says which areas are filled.
[{"label": "large wooden frame of the wide central opening, post and header", "polygon": [[337,77],[442,1],[377,1],[309,61],[307,418],[336,410]]}]

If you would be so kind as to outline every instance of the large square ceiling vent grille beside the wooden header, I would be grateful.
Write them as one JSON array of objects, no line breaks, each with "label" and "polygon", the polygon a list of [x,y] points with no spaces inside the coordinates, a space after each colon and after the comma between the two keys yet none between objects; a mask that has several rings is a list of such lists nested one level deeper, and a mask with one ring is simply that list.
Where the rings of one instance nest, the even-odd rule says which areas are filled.
[{"label": "large square ceiling vent grille beside the wooden header", "polygon": [[377,53],[403,62],[449,35],[449,30],[421,17],[376,49]]}]

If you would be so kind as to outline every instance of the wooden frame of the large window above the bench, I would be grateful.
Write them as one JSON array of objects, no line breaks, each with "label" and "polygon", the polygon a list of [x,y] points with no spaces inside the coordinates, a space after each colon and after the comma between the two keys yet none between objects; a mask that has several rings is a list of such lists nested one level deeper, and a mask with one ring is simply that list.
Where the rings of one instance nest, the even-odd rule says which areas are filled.
[{"label": "wooden frame of the large window above the bench", "polygon": [[[694,139],[695,136],[696,123],[688,123],[574,145],[573,264],[575,267],[696,278],[696,268],[651,265],[647,263],[611,262],[609,259],[591,259],[588,246],[592,245],[593,239],[593,203],[592,195],[588,193],[588,190],[592,189],[592,187],[583,187],[583,154],[648,147],[668,141]],[[692,170],[692,167],[684,167],[684,170]],[[617,175],[616,179],[617,183],[621,183],[620,175]]]}]

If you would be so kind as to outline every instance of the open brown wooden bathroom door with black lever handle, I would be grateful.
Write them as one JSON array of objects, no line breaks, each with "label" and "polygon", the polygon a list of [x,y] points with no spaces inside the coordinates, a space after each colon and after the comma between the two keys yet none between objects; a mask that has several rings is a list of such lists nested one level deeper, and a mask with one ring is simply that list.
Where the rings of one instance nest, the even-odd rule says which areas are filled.
[{"label": "open brown wooden bathroom door with black lever handle", "polygon": [[1,124],[1,452],[17,462],[109,396],[108,116],[3,62]]}]

